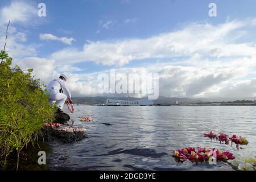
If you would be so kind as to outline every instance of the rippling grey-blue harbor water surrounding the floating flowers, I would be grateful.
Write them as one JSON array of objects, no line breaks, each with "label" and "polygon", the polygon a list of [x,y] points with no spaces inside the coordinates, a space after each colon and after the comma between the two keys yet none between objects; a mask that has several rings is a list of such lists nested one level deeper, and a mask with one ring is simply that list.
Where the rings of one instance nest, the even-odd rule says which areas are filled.
[{"label": "rippling grey-blue harbor water surrounding the floating flowers", "polygon": [[[85,127],[86,138],[49,143],[51,170],[232,170],[226,163],[176,163],[172,152],[183,147],[215,147],[236,157],[256,155],[255,106],[79,105],[70,115],[69,125]],[[81,115],[92,115],[94,121],[80,122]],[[249,144],[237,150],[235,144],[211,142],[203,137],[208,131],[241,135]]]}]

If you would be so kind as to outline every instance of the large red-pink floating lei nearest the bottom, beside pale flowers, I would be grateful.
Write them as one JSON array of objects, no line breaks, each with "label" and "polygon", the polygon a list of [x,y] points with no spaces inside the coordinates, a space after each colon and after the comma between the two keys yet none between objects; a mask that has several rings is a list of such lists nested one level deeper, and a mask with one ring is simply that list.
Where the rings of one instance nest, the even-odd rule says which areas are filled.
[{"label": "large red-pink floating lei nearest the bottom, beside pale flowers", "polygon": [[192,148],[192,147],[186,147],[182,148],[180,150],[174,151],[172,154],[172,157],[175,158],[175,161],[178,163],[182,163],[185,160],[190,160],[192,163],[209,163],[209,159],[213,154],[216,154],[216,160],[217,162],[227,162],[228,160],[233,160],[235,159],[234,155],[229,152],[229,151],[221,151],[221,150],[216,150],[213,148],[210,150],[209,148],[201,148],[197,147]]}]

